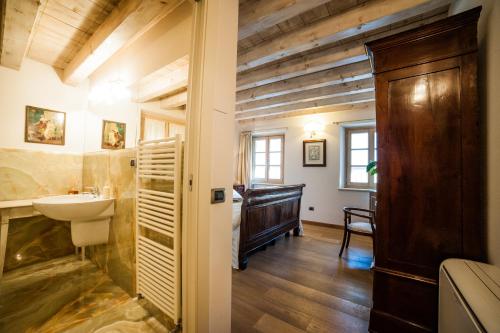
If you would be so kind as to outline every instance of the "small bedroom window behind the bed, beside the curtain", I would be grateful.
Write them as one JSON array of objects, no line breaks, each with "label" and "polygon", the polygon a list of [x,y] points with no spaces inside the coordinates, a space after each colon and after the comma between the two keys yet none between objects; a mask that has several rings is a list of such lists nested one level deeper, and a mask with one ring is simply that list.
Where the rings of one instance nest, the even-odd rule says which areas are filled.
[{"label": "small bedroom window behind the bed, beside the curtain", "polygon": [[283,135],[258,136],[252,145],[252,183],[283,184]]}]

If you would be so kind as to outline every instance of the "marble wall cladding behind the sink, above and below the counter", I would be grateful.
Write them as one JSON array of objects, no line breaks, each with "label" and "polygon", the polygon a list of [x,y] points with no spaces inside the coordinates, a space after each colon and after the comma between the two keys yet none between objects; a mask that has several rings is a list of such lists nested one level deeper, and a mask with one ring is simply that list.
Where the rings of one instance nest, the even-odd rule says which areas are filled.
[{"label": "marble wall cladding behind the sink, above and below the counter", "polygon": [[[81,190],[82,168],[81,154],[0,148],[0,201]],[[71,253],[69,222],[45,216],[15,219],[9,225],[4,271]]]}]

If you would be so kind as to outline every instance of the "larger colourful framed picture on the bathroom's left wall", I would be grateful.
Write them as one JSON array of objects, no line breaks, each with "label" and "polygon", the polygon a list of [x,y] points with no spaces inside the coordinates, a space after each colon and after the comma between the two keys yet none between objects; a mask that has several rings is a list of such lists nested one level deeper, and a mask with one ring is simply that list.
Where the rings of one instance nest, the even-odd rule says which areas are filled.
[{"label": "larger colourful framed picture on the bathroom's left wall", "polygon": [[66,113],[26,106],[24,141],[64,146]]}]

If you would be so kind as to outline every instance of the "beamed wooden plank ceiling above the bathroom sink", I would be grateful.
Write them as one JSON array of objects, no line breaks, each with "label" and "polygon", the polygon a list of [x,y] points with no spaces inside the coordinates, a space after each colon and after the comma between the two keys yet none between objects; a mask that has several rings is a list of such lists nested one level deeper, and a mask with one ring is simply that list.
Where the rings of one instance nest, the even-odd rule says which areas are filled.
[{"label": "beamed wooden plank ceiling above the bathroom sink", "polygon": [[184,0],[0,0],[0,64],[25,56],[78,84]]}]

